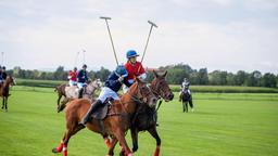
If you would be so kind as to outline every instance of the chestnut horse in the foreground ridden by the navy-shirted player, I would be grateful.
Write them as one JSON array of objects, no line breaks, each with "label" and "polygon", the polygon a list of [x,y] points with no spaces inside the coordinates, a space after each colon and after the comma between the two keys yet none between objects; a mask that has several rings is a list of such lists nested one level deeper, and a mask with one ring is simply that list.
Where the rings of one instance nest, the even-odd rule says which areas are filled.
[{"label": "chestnut horse in the foreground ridden by the navy-shirted player", "polygon": [[[137,110],[138,103],[143,103],[150,107],[155,107],[157,99],[151,92],[151,89],[146,86],[139,79],[130,87],[129,91],[121,96],[119,101],[113,101],[108,116],[102,120],[103,128],[100,127],[100,121],[92,118],[86,127],[100,133],[102,135],[110,135],[113,138],[113,144],[119,141],[119,144],[124,147],[125,154],[132,156],[130,148],[125,140],[125,133],[130,128],[130,120],[132,115]],[[63,136],[62,143],[56,148],[53,148],[53,153],[60,153],[63,150],[63,156],[67,156],[67,143],[72,135],[85,126],[80,123],[83,117],[86,115],[90,107],[90,102],[85,99],[77,99],[68,103],[65,109],[66,116],[66,131]],[[109,156],[114,155],[114,145],[109,148]]]}]

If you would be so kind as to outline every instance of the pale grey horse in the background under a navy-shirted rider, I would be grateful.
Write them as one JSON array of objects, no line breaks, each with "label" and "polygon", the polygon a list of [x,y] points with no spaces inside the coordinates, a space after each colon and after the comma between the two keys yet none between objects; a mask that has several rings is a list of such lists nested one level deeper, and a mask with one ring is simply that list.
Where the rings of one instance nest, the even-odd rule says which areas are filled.
[{"label": "pale grey horse in the background under a navy-shirted rider", "polygon": [[[100,79],[96,79],[93,81],[89,80],[88,84],[85,87],[85,90],[83,92],[83,98],[91,100],[93,96],[93,93],[100,88],[101,88]],[[58,106],[56,106],[58,113],[62,112],[65,108],[65,105],[67,102],[70,102],[73,99],[78,99],[78,95],[79,95],[78,88],[76,86],[70,87],[66,83],[63,83],[56,87],[55,91],[58,92]],[[64,96],[64,100],[60,103],[60,100],[62,96]]]}]

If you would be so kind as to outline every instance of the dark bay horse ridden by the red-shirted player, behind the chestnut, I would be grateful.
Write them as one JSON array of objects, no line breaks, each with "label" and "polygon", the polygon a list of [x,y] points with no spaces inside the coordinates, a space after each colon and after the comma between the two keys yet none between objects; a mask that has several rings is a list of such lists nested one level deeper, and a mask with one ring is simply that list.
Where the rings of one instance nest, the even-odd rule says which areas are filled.
[{"label": "dark bay horse ridden by the red-shirted player, behind the chestnut", "polygon": [[[166,75],[167,72],[160,76],[153,70],[154,79],[152,80],[150,88],[157,99],[163,99],[164,101],[169,102],[174,99],[174,94],[165,79]],[[156,148],[153,156],[160,155],[161,139],[156,130],[156,110],[157,109],[148,107],[143,104],[139,106],[139,110],[135,115],[130,128],[134,153],[138,150],[138,133],[140,131],[148,131],[156,141]],[[124,153],[122,152],[121,155],[124,155]]]}]

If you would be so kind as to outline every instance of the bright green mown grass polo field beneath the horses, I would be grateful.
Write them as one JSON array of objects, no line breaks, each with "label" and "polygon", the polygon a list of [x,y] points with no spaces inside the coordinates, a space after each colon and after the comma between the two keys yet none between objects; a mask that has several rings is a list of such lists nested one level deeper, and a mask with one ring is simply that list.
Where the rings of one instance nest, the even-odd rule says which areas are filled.
[{"label": "bright green mown grass polo field beneath the horses", "polygon": [[[162,156],[278,155],[277,93],[195,93],[193,100],[194,113],[181,113],[177,95],[161,106]],[[0,110],[0,156],[54,156],[65,128],[55,101],[53,89],[14,87],[9,112]],[[129,133],[127,140],[131,145]],[[154,139],[141,132],[135,156],[151,156],[154,147]],[[102,138],[87,129],[68,144],[70,156],[105,154]]]}]

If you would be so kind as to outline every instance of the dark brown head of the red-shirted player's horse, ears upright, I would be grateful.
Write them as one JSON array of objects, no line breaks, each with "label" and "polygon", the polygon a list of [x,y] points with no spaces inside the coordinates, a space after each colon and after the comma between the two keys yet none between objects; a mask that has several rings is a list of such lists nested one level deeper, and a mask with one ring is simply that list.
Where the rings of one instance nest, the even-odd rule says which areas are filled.
[{"label": "dark brown head of the red-shirted player's horse, ears upright", "polygon": [[167,70],[160,76],[155,70],[153,70],[153,81],[151,82],[152,92],[157,96],[164,99],[166,102],[174,99],[174,93],[172,92],[165,77]]}]

